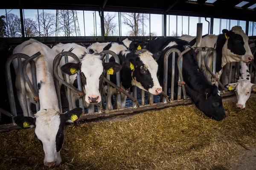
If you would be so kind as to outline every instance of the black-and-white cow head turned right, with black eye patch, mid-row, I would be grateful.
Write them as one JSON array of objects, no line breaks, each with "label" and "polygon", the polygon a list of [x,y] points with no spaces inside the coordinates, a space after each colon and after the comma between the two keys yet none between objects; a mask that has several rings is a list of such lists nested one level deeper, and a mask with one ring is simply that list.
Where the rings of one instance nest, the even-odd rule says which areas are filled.
[{"label": "black-and-white cow head turned right, with black eye patch, mid-row", "polygon": [[[126,61],[126,67],[132,70],[131,84],[151,94],[157,95],[162,92],[162,87],[157,79],[157,60],[161,52],[154,55],[149,51],[137,55]],[[134,67],[133,67],[134,66]]]}]

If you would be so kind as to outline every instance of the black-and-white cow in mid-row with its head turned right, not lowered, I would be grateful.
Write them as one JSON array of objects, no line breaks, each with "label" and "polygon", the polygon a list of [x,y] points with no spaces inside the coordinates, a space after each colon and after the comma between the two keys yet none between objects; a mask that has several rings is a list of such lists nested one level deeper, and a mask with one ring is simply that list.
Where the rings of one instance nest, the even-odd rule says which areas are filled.
[{"label": "black-and-white cow in mid-row with its head turned right, not lowered", "polygon": [[[96,44],[98,45],[98,44]],[[91,45],[93,46],[93,44]],[[116,53],[119,57],[119,62],[122,65],[120,71],[121,76],[121,88],[125,91],[129,91],[132,85],[137,86],[140,89],[148,91],[151,94],[157,95],[162,92],[157,79],[157,60],[160,53],[152,54],[145,52],[141,54],[135,54],[131,50],[127,50],[125,45],[118,42],[109,43],[103,50],[110,50]],[[114,61],[114,58],[110,56],[109,61]],[[116,83],[116,76],[110,75],[111,81]],[[107,95],[116,94],[116,90],[111,90]],[[126,98],[124,94],[121,94],[121,107],[125,108]]]}]

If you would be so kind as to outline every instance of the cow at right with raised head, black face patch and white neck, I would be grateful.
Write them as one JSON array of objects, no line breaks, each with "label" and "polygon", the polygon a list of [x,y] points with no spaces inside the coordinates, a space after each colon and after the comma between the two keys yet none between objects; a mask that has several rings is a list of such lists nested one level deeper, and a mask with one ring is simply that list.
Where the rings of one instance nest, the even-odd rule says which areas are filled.
[{"label": "cow at right with raised head, black face patch and white neck", "polygon": [[[217,52],[216,59],[216,77],[220,79],[223,67],[228,62],[251,62],[253,60],[253,54],[250,51],[248,44],[248,36],[244,33],[241,26],[233,26],[230,31],[227,29],[222,30],[223,34],[219,35],[207,35],[202,38],[202,47],[215,48]],[[189,35],[182,35],[179,37],[181,40],[190,41],[192,39]],[[193,43],[192,43],[193,42]],[[190,41],[190,44],[194,44],[195,47],[196,38]],[[205,71],[204,58],[206,52],[201,53],[201,69]],[[212,68],[213,53],[209,56],[209,68]],[[212,75],[207,71],[207,79],[210,82]],[[216,82],[216,85],[218,83]]]}]

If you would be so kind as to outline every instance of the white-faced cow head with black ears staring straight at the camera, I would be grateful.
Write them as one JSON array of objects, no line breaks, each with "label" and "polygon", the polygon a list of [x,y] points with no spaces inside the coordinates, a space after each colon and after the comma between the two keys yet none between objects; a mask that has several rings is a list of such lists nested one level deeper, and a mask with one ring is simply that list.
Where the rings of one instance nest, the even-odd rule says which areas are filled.
[{"label": "white-faced cow head with black ears staring straight at the camera", "polygon": [[[81,62],[69,62],[61,66],[61,71],[69,75],[73,75],[77,71],[80,71],[85,91],[85,101],[87,103],[99,103],[101,102],[100,89],[102,88],[102,80],[105,71],[110,71],[111,74],[116,74],[121,68],[122,65],[116,62],[102,62],[100,55],[85,54],[81,59]],[[76,82],[76,80],[73,82]]]}]

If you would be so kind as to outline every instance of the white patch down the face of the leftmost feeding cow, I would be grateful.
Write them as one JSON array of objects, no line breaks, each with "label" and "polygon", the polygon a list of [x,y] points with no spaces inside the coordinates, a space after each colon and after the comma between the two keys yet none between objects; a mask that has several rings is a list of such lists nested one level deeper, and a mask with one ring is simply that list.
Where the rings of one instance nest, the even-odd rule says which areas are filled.
[{"label": "white patch down the face of the leftmost feeding cow", "polygon": [[61,123],[59,113],[54,109],[40,110],[35,114],[35,134],[43,143],[44,163],[61,163],[60,152],[56,152],[56,134]]}]

